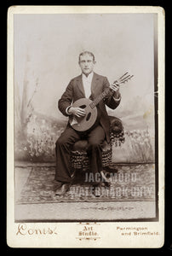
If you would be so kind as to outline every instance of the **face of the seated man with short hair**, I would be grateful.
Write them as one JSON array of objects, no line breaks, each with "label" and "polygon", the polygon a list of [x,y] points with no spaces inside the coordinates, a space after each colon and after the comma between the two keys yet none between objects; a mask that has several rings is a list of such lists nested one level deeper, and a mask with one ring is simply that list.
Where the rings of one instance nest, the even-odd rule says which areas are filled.
[{"label": "face of the seated man with short hair", "polygon": [[95,61],[93,61],[93,56],[85,54],[80,56],[79,66],[85,75],[89,75],[94,69]]}]

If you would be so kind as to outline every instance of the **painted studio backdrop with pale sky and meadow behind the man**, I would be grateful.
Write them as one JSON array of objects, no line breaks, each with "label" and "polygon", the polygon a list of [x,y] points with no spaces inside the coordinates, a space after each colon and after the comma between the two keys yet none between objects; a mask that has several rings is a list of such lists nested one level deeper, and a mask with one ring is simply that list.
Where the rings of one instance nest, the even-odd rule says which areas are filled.
[{"label": "painted studio backdrop with pale sky and meadow behind the man", "polygon": [[154,32],[152,14],[14,15],[15,160],[53,162],[67,118],[57,108],[81,73],[78,55],[95,54],[95,73],[110,83],[123,73],[122,101],[110,115],[123,121],[125,141],[113,162],[154,161]]}]

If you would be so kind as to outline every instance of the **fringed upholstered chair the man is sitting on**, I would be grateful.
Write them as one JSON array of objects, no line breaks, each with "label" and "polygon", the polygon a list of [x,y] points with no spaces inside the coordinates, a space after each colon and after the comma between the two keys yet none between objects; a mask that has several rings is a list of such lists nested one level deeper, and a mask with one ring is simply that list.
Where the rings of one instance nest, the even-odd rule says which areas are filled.
[{"label": "fringed upholstered chair the man is sitting on", "polygon": [[[106,140],[102,146],[102,165],[106,167],[112,164],[112,145],[120,146],[124,142],[124,132],[122,121],[116,117],[109,116],[110,119],[110,143]],[[81,172],[89,171],[89,158],[86,152],[88,146],[87,140],[80,140],[73,145],[71,154],[71,163],[74,174],[80,170]]]}]

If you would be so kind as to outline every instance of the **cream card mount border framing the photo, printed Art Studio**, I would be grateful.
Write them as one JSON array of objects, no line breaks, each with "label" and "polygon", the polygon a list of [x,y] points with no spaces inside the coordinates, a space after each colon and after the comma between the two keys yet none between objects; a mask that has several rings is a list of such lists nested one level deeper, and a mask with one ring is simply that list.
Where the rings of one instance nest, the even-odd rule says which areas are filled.
[{"label": "cream card mount border framing the photo, printed Art Studio", "polygon": [[[158,212],[155,222],[100,223],[101,239],[78,241],[77,223],[30,223],[30,229],[57,228],[54,236],[18,236],[14,223],[14,14],[90,14],[90,13],[158,14]],[[7,243],[9,247],[162,247],[164,242],[164,10],[155,6],[12,6],[8,11],[8,114],[7,114]],[[148,226],[160,236],[122,237],[117,226]],[[72,230],[72,232],[68,232]],[[66,235],[68,236],[66,244]]]}]

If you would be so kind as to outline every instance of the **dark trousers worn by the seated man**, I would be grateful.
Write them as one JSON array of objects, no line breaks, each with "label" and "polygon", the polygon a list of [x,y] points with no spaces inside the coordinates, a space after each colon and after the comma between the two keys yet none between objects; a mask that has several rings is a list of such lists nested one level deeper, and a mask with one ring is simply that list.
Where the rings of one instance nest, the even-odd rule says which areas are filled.
[{"label": "dark trousers worn by the seated man", "polygon": [[87,154],[89,156],[89,170],[94,174],[102,171],[102,148],[101,144],[105,140],[105,131],[101,125],[96,125],[88,132],[77,132],[72,127],[67,126],[56,142],[56,169],[54,179],[60,182],[70,183],[72,178],[72,167],[70,162],[70,152],[72,145],[80,139],[87,139],[89,146]]}]

